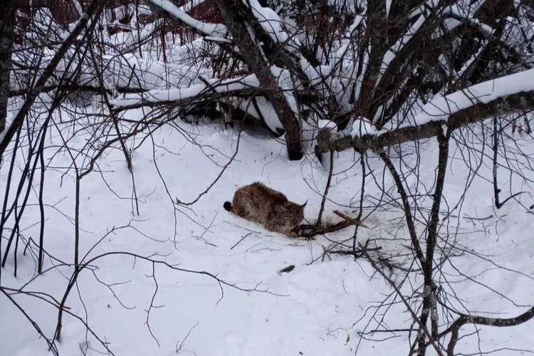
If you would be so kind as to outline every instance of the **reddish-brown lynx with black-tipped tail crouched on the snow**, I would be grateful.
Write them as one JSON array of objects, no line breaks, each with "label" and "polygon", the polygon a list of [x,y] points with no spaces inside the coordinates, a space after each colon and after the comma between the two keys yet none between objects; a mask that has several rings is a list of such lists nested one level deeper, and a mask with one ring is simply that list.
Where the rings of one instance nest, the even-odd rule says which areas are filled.
[{"label": "reddish-brown lynx with black-tipped tail crouched on the snow", "polygon": [[233,203],[226,201],[224,209],[261,223],[268,231],[296,237],[298,233],[295,230],[298,230],[298,224],[304,219],[306,203],[293,203],[281,192],[254,182],[237,189]]}]

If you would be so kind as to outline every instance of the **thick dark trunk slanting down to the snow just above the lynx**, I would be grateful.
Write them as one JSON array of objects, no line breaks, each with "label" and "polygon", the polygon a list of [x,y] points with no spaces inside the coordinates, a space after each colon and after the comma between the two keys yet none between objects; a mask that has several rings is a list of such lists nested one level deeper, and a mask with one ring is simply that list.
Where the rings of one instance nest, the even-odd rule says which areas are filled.
[{"label": "thick dark trunk slanting down to the snow just above the lynx", "polygon": [[234,43],[239,48],[239,53],[245,63],[256,74],[264,95],[273,105],[273,109],[278,115],[284,130],[286,130],[286,146],[289,159],[296,161],[303,157],[302,142],[300,137],[300,125],[297,117],[289,107],[288,100],[281,88],[276,83],[276,78],[271,73],[270,64],[266,58],[261,56],[261,52],[256,43],[251,38],[252,26],[247,27],[245,19],[251,16],[244,16],[243,11],[250,11],[246,6],[240,6],[236,0],[216,0],[221,14],[224,17],[226,26],[234,37]]}]

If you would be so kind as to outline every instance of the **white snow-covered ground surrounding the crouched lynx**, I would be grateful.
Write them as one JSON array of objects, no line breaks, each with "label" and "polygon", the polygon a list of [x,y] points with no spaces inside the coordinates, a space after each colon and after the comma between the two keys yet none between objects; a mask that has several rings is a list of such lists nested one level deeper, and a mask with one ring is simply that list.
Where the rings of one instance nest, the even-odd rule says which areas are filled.
[{"label": "white snow-covered ground surrounding the crouched lynx", "polygon": [[[177,122],[177,125],[189,132],[200,146],[191,142],[191,137],[164,127],[135,151],[139,215],[132,214],[132,179],[120,151],[112,150],[99,159],[101,172],[82,179],[80,256],[88,253],[85,261],[114,251],[153,256],[179,268],[206,271],[238,288],[256,291],[221,286],[209,276],[174,271],[163,265],[153,267],[140,258],[110,254],[80,274],[66,303],[70,312],[83,320],[87,318],[90,328],[120,356],[355,355],[356,352],[357,355],[407,355],[406,332],[363,337],[359,334],[375,329],[376,320],[386,311],[384,320],[389,328],[409,327],[409,313],[398,298],[391,308],[379,309],[374,314],[393,289],[363,258],[355,260],[335,254],[323,258],[325,248],[350,238],[353,229],[318,236],[313,241],[289,239],[222,209],[236,187],[261,180],[284,192],[292,201],[302,204],[308,199],[305,216],[313,222],[328,169],[321,168],[311,156],[301,162],[289,162],[281,142],[244,132],[234,162],[209,192],[195,204],[175,211],[176,199],[184,203],[194,201],[210,186],[234,155],[237,142],[235,132],[221,130],[216,124],[194,126]],[[83,137],[75,140],[83,142]],[[529,140],[518,139],[518,144],[525,145],[525,150],[534,148]],[[362,179],[360,164],[355,164],[358,156],[350,151],[337,155],[336,174],[325,211],[327,221],[339,219],[333,209],[352,216],[357,214]],[[451,159],[444,195],[447,204],[454,206],[464,192],[468,169],[459,159],[460,150],[451,148],[451,156],[455,159]],[[417,157],[406,155],[404,159],[415,164]],[[435,142],[424,144],[421,162],[419,178],[429,184],[434,181],[437,162]],[[62,152],[50,165],[68,164],[70,157]],[[384,164],[370,157],[370,165],[375,169],[377,182],[382,184],[384,179],[390,186],[389,174],[382,174]],[[0,189],[6,186],[6,170],[0,172]],[[46,209],[45,247],[58,260],[72,263],[74,226],[65,215],[74,216],[75,184],[72,174],[62,174],[62,169],[48,169],[46,173],[45,200],[50,206]],[[481,176],[489,179],[490,174],[491,167],[483,165]],[[482,177],[474,179],[462,210],[454,211],[449,219],[451,226],[460,226],[457,243],[486,257],[471,253],[451,256],[450,262],[444,262],[444,276],[454,282],[457,297],[469,310],[511,317],[532,305],[534,219],[515,201],[509,201],[498,211],[493,209],[491,179]],[[507,174],[501,174],[505,188],[508,179]],[[517,189],[518,185],[514,184],[518,182],[512,182],[512,187]],[[366,189],[370,199],[366,205],[369,205],[371,199],[379,197],[379,189],[371,179]],[[521,190],[530,191],[529,187]],[[395,191],[392,194],[397,197]],[[532,204],[528,194],[524,194],[524,199],[525,205]],[[36,196],[32,194],[30,204],[35,202]],[[487,216],[491,217],[481,219]],[[358,239],[377,239],[376,244],[382,246],[384,253],[398,254],[398,261],[407,261],[403,256],[409,242],[400,218],[402,211],[393,206],[373,211],[365,220],[369,229],[360,229]],[[38,206],[28,206],[23,219],[26,238],[38,238],[38,221]],[[119,229],[127,224],[130,227]],[[114,226],[117,230],[93,248]],[[17,262],[15,278],[14,260],[10,256],[2,271],[1,286],[19,288],[36,276],[33,258],[29,253],[23,256],[20,246]],[[45,269],[49,271],[33,279],[25,289],[50,293],[61,300],[72,268],[51,268],[57,263],[46,258]],[[458,276],[451,263],[471,279]],[[293,271],[278,273],[291,264],[295,265]],[[498,269],[497,265],[507,269]],[[392,278],[400,281],[399,276],[400,273],[392,271]],[[414,283],[417,282],[414,278]],[[24,295],[14,298],[41,325],[43,333],[53,337],[56,308]],[[459,307],[459,303],[453,305]],[[0,295],[0,318],[0,355],[47,355],[46,342],[39,340],[28,320],[4,295]],[[511,349],[534,350],[534,338],[529,331],[533,325],[534,322],[529,322],[514,328],[477,330],[466,326],[461,335],[470,335],[459,341],[456,350],[464,354],[492,350],[500,350],[497,355],[528,353]],[[88,335],[79,320],[65,315],[58,350],[61,355],[101,355],[103,347]],[[430,349],[429,355],[432,355]]]}]

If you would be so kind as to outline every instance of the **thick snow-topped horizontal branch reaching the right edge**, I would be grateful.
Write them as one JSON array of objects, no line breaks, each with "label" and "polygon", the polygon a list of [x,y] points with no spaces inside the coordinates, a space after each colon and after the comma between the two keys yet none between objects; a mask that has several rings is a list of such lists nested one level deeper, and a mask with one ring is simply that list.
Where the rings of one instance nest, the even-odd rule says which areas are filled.
[{"label": "thick snow-topped horizontal branch reaching the right edge", "polygon": [[[465,125],[514,112],[534,110],[534,70],[507,75],[437,98],[424,105],[413,125],[376,131],[369,125],[355,127],[351,136],[332,140],[323,129],[316,152],[374,150],[422,140]],[[361,120],[356,120],[357,125]]]}]

